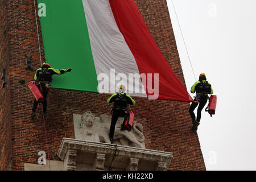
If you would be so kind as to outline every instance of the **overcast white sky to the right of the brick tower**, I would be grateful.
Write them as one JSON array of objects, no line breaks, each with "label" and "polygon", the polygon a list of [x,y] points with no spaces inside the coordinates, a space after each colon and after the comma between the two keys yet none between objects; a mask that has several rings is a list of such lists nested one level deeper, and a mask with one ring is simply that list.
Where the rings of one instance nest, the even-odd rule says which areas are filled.
[{"label": "overcast white sky to the right of the brick tower", "polygon": [[[256,170],[256,1],[173,2],[196,79],[205,73],[217,95],[216,114],[202,111],[197,131],[207,170]],[[167,3],[190,90],[195,78]]]}]

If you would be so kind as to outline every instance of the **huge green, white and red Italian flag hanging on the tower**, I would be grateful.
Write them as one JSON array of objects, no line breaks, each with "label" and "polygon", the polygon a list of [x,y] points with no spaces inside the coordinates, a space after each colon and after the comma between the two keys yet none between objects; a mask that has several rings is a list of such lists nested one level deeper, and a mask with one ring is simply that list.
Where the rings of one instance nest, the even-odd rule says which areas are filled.
[{"label": "huge green, white and red Italian flag hanging on the tower", "polygon": [[47,63],[72,68],[53,77],[53,88],[115,93],[123,84],[131,96],[158,92],[159,99],[192,102],[134,0],[38,0],[38,5],[39,12],[46,11],[40,25]]}]

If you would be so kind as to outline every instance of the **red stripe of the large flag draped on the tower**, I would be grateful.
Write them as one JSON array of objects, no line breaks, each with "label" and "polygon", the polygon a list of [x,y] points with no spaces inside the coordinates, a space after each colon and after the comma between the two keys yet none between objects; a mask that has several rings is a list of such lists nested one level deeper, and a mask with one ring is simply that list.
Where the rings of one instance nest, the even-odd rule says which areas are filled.
[{"label": "red stripe of the large flag draped on the tower", "polygon": [[[125,38],[140,73],[159,73],[159,99],[192,102],[155,43],[134,0],[109,0],[115,22]],[[153,74],[154,75],[154,74]],[[154,80],[154,79],[152,79]],[[154,82],[152,84],[154,86]],[[143,83],[146,88],[145,83]],[[146,91],[147,96],[151,94]]]}]

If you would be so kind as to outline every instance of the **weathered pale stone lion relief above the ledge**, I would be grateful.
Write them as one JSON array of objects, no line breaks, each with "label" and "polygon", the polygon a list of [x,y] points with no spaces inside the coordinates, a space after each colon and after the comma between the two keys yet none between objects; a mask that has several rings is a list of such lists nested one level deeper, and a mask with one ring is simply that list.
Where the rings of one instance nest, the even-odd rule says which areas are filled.
[{"label": "weathered pale stone lion relief above the ledge", "polygon": [[[121,123],[123,118],[119,118],[115,125],[114,144],[123,146],[145,148],[143,126],[141,123],[134,121],[131,131],[121,131]],[[86,141],[110,143],[109,127],[111,116],[102,114],[100,118],[95,117],[91,111],[83,113],[79,116],[74,114],[74,126],[76,139]]]}]

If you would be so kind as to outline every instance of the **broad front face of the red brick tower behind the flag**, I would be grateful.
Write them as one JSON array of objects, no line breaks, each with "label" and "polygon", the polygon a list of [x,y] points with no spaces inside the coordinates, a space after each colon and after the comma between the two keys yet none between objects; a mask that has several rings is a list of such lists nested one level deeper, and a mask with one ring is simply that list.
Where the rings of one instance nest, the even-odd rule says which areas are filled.
[{"label": "broad front face of the red brick tower behind the flag", "polygon": [[[40,67],[33,0],[6,0],[10,44],[11,121],[13,124],[13,169],[24,169],[24,163],[37,163],[38,152],[46,151],[46,139],[39,105],[35,119],[30,119],[33,97],[27,88],[35,69]],[[151,34],[163,55],[185,85],[176,49],[174,32],[166,1],[135,0]],[[159,10],[159,11],[158,11]],[[39,23],[39,21],[38,21]],[[43,48],[42,35],[39,35]],[[32,55],[34,71],[26,71],[24,53]],[[43,60],[44,52],[42,50]],[[54,65],[53,65],[54,67]],[[62,68],[61,68],[62,69]],[[67,73],[68,74],[68,73]],[[19,80],[26,84],[20,84]],[[109,114],[108,96],[72,90],[51,89],[48,97],[46,129],[50,158],[55,154],[63,137],[74,138],[72,114],[91,110],[99,117]],[[135,98],[135,119],[144,126],[146,148],[171,151],[174,158],[171,170],[205,170],[200,143],[188,114],[189,104],[174,101],[148,101]],[[56,159],[57,160],[57,159]]]}]

